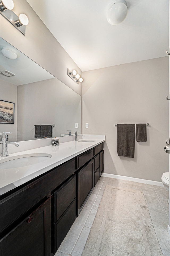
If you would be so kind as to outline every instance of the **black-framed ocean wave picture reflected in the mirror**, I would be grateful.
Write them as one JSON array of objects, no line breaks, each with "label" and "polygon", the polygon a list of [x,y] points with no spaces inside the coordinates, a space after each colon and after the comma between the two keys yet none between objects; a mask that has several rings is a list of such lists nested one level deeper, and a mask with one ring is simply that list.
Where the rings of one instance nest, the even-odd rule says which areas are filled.
[{"label": "black-framed ocean wave picture reflected in the mirror", "polygon": [[14,124],[15,103],[0,100],[0,124]]}]

